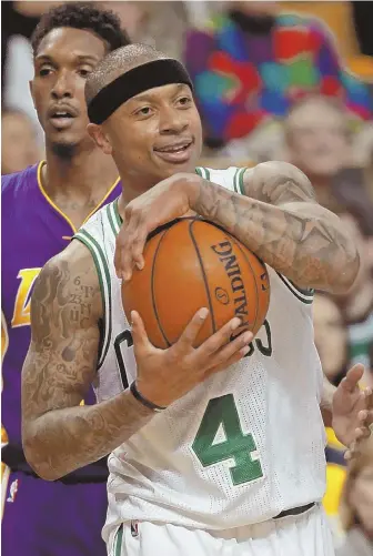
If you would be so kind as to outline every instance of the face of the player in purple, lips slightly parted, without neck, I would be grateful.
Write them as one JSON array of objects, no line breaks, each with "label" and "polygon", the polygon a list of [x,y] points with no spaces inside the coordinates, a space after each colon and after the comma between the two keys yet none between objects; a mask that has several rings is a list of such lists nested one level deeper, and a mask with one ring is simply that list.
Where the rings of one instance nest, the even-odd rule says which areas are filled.
[{"label": "face of the player in purple, lips slightly parted, without neck", "polygon": [[47,144],[62,148],[91,141],[84,85],[104,54],[105,43],[81,29],[54,29],[41,41],[30,87]]}]

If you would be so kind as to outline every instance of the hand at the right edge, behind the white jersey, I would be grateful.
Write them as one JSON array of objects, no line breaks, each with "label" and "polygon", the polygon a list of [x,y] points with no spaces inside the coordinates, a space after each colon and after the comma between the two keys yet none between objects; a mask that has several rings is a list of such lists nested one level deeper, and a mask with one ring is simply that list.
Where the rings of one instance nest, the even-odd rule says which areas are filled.
[{"label": "hand at the right edge, behind the white jersey", "polygon": [[347,447],[344,457],[359,453],[362,439],[371,435],[373,395],[371,388],[360,390],[359,381],[364,366],[354,365],[341,381],[333,396],[333,429],[337,439]]}]

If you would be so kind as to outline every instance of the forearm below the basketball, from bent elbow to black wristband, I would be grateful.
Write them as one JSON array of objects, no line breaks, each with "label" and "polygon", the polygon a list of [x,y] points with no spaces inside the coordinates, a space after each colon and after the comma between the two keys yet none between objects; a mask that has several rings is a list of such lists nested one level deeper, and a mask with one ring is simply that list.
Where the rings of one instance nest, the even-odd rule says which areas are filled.
[{"label": "forearm below the basketball, from bent elbow to black wristband", "polygon": [[110,454],[153,416],[129,391],[97,405],[52,410],[23,425],[24,454],[38,475],[54,481]]}]

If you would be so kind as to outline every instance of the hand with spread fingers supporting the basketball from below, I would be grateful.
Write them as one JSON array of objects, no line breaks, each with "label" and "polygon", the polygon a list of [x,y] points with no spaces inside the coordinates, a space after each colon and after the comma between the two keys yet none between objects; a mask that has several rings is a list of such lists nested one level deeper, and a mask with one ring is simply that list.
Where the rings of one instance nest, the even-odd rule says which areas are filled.
[{"label": "hand with spread fingers supporting the basketball from below", "polygon": [[232,333],[241,324],[238,317],[194,348],[193,344],[208,314],[206,309],[201,309],[175,344],[168,350],[159,350],[150,343],[139,313],[132,311],[137,386],[147,400],[167,407],[208,376],[236,363],[249,352],[253,338],[251,332],[244,332],[230,342]]}]

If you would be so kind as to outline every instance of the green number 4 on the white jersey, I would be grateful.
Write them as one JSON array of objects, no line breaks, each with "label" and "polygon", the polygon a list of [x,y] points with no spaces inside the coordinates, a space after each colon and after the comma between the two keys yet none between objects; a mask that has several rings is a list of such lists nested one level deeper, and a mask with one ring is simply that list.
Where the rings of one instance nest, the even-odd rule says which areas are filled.
[{"label": "green number 4 on the white jersey", "polygon": [[230,467],[233,485],[263,476],[260,461],[252,457],[256,451],[254,438],[242,432],[233,394],[210,400],[192,449],[203,467],[234,459]]}]

